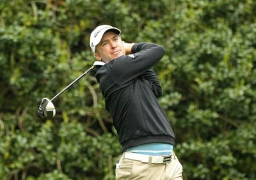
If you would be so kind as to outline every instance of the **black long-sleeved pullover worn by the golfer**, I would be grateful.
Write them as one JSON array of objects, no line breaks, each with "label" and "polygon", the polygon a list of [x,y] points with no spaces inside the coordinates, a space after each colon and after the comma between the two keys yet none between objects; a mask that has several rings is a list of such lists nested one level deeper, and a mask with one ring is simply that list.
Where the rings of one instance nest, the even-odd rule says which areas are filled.
[{"label": "black long-sleeved pullover worn by the golfer", "polygon": [[136,43],[131,52],[103,65],[95,75],[122,150],[150,142],[174,145],[173,130],[156,99],[161,86],[151,69],[164,56],[164,48]]}]

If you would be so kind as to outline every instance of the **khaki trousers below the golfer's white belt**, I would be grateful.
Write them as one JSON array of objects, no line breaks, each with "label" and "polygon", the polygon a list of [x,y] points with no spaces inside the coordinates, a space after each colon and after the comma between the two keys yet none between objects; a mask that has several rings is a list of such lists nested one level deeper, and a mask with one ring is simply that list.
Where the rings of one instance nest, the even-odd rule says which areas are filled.
[{"label": "khaki trousers below the golfer's white belt", "polygon": [[116,180],[183,180],[182,166],[173,152],[167,164],[148,164],[124,159],[124,153],[116,168]]}]

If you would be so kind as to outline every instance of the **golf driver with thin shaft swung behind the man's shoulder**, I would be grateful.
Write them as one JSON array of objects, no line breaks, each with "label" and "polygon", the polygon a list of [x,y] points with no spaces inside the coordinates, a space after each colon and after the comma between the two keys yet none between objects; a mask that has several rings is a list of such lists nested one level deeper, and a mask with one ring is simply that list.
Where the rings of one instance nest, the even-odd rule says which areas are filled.
[{"label": "golf driver with thin shaft swung behind the man's shoulder", "polygon": [[53,99],[55,99],[56,97],[58,97],[60,94],[62,94],[64,91],[66,91],[68,88],[70,88],[74,83],[76,83],[79,79],[81,79],[84,75],[86,75],[89,71],[91,71],[92,69],[94,69],[95,67],[101,67],[103,66],[105,63],[101,62],[101,61],[95,61],[93,63],[93,66],[90,67],[88,70],[86,70],[86,72],[84,72],[83,74],[81,74],[78,78],[75,79],[75,81],[73,81],[72,83],[70,83],[67,87],[65,87],[64,89],[62,89],[58,94],[56,94],[52,99],[48,99],[46,97],[44,97],[39,105],[39,109],[38,109],[38,114],[39,116],[41,116],[42,118],[53,118],[56,114],[56,110],[55,107],[52,103]]}]

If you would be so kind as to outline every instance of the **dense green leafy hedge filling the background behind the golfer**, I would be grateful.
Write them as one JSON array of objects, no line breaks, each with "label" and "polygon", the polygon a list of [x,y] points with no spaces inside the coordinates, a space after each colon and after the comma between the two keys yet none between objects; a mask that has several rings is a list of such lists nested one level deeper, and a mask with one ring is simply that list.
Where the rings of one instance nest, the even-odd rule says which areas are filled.
[{"label": "dense green leafy hedge filling the background behind the golfer", "polygon": [[93,73],[90,32],[153,42],[159,102],[184,180],[256,179],[256,1],[1,0],[0,179],[112,180],[121,147]]}]

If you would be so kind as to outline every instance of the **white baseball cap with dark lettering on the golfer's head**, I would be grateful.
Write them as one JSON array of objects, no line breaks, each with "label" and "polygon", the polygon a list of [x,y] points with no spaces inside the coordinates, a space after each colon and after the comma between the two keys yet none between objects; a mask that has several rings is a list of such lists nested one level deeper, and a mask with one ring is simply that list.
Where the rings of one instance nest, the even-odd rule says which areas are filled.
[{"label": "white baseball cap with dark lettering on the golfer's head", "polygon": [[103,34],[107,31],[114,31],[118,35],[120,35],[121,31],[117,29],[116,27],[112,27],[109,25],[100,25],[95,28],[95,30],[92,31],[90,36],[90,47],[92,49],[92,52],[95,53],[96,46],[100,43],[100,40],[103,36]]}]

